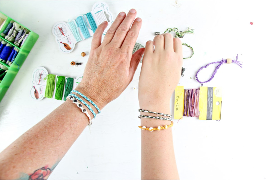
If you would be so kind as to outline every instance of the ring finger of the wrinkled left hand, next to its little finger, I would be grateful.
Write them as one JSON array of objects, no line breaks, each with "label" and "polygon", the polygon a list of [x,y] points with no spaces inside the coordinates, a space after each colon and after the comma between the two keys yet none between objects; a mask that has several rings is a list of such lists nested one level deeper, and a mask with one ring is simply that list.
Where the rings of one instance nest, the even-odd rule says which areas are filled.
[{"label": "ring finger of the wrinkled left hand, next to its little finger", "polygon": [[121,12],[118,14],[118,16],[115,18],[115,21],[112,23],[111,27],[107,30],[105,34],[105,38],[103,40],[103,44],[108,44],[113,39],[116,29],[119,27],[119,25],[122,23],[122,21],[125,19],[125,13]]}]

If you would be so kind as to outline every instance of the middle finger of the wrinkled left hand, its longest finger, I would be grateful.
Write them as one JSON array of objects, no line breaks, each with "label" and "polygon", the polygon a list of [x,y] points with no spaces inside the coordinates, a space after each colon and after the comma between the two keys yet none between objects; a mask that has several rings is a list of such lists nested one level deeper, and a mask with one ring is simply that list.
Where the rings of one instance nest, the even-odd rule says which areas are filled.
[{"label": "middle finger of the wrinkled left hand, its longest finger", "polygon": [[132,22],[134,21],[135,17],[136,17],[136,10],[130,9],[123,22],[119,25],[119,27],[115,31],[115,35],[111,41],[115,46],[121,47],[125,39],[125,36],[129,31],[129,28]]}]

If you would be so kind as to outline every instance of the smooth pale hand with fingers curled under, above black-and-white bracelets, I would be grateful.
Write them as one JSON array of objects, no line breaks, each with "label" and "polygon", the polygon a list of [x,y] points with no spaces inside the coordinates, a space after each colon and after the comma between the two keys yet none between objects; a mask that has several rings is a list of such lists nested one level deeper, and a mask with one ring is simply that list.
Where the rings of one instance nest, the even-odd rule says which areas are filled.
[{"label": "smooth pale hand with fingers curled under, above black-and-white bracelets", "polygon": [[147,41],[139,80],[140,108],[156,111],[150,109],[155,104],[169,106],[171,95],[181,77],[182,63],[180,39],[164,33],[156,35],[153,42]]}]

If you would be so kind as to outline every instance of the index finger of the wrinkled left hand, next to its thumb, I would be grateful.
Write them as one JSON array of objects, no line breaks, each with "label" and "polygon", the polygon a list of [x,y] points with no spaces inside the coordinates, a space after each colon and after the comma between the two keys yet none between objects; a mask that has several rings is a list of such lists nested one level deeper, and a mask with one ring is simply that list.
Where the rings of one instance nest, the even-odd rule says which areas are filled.
[{"label": "index finger of the wrinkled left hand, next to its thumb", "polygon": [[132,50],[136,44],[137,37],[138,37],[140,29],[141,29],[141,24],[142,24],[141,18],[136,18],[135,21],[133,22],[130,30],[126,34],[126,37],[125,37],[125,40],[121,46],[121,49],[131,51],[131,53],[132,53]]}]

